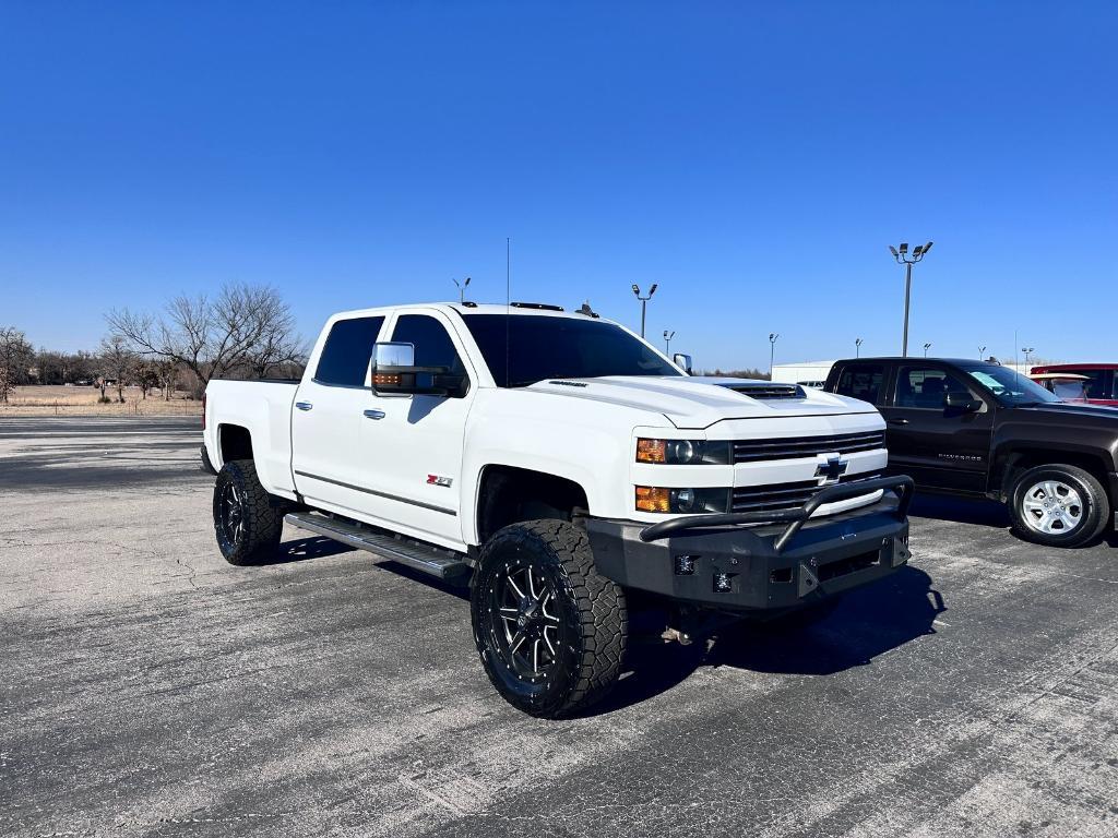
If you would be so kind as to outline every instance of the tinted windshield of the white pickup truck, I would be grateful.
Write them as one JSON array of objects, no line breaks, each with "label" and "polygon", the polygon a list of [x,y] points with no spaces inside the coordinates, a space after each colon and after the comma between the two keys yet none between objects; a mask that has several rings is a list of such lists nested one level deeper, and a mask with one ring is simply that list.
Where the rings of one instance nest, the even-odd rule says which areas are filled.
[{"label": "tinted windshield of the white pickup truck", "polygon": [[680,374],[613,323],[530,314],[464,314],[463,320],[498,387],[543,379]]}]

